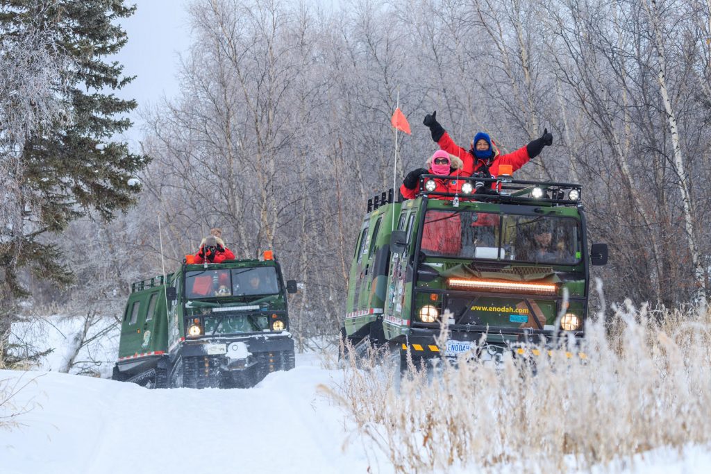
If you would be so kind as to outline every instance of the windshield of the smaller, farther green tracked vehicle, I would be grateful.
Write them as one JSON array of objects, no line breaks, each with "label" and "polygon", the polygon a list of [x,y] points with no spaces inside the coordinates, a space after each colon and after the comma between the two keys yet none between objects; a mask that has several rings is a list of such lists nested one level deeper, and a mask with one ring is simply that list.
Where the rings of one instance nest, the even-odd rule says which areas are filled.
[{"label": "windshield of the smaller, farther green tracked vehicle", "polygon": [[279,281],[274,266],[188,271],[185,289],[188,299],[271,295],[279,293]]}]

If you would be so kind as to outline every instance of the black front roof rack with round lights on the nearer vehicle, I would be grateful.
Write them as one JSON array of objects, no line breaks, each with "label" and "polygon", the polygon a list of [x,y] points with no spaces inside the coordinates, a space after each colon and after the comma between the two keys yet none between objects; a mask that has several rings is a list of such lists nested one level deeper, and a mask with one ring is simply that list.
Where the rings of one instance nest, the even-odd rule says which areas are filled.
[{"label": "black front roof rack with round lights on the nearer vehicle", "polygon": [[[441,193],[427,189],[427,183],[434,180],[442,181],[464,181],[471,183],[471,187],[464,184],[458,185],[461,193]],[[498,194],[477,194],[479,188],[492,189],[493,184],[496,184]],[[432,187],[432,185],[429,185]],[[462,189],[464,188],[464,189]],[[469,190],[465,193],[464,190]],[[442,177],[439,175],[424,174],[419,177],[418,196],[427,198],[456,198],[456,200],[467,201],[483,201],[487,203],[519,203],[519,204],[538,204],[551,203],[559,205],[582,205],[580,197],[582,194],[582,185],[574,183],[557,183],[554,181],[523,181],[507,178],[479,178],[469,176],[461,178],[459,176]]]}]

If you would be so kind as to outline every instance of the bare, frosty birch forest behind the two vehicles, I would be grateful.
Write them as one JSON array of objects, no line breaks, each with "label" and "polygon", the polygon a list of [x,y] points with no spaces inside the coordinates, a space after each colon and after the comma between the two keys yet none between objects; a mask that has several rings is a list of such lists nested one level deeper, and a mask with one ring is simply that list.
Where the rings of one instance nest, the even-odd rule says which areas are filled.
[{"label": "bare, frosty birch forest behind the two vehicles", "polygon": [[24,311],[119,318],[130,283],[163,271],[161,253],[171,271],[221,227],[237,257],[274,249],[303,284],[290,300],[299,340],[336,333],[366,200],[392,187],[398,93],[412,125],[398,141],[398,181],[437,149],[422,125],[433,110],[465,148],[482,130],[513,151],[547,127],[553,146],[516,177],[582,183],[589,239],[610,247],[596,270],[606,300],[705,302],[710,9],[196,0],[181,93],[142,111],[151,161],[136,176],[137,204],[38,237],[75,278],[58,286],[20,269],[33,303]]}]

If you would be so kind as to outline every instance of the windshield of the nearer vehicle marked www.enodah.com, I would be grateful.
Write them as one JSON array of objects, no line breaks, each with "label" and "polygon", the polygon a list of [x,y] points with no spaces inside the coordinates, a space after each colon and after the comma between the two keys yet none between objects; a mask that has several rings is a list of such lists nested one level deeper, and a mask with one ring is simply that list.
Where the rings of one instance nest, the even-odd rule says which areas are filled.
[{"label": "windshield of the nearer vehicle marked www.enodah.com", "polygon": [[576,264],[582,256],[572,217],[428,210],[420,249],[431,257]]}]

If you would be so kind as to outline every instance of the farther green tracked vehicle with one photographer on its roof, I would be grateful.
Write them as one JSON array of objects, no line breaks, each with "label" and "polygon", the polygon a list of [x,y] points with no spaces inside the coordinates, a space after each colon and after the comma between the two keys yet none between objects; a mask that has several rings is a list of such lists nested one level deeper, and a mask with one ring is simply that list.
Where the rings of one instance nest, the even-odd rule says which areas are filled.
[{"label": "farther green tracked vehicle with one photographer on its roof", "polygon": [[294,368],[287,293],[264,259],[187,264],[132,284],[112,378],[149,388],[252,387]]}]

